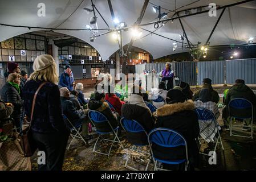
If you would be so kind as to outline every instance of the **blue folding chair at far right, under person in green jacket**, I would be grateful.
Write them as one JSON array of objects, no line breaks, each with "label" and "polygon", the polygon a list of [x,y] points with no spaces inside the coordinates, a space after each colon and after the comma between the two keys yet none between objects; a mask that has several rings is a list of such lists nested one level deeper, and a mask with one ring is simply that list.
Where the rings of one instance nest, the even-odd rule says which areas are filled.
[{"label": "blue folding chair at far right, under person in green jacket", "polygon": [[[250,101],[246,100],[245,98],[235,98],[229,102],[229,116],[230,116],[230,136],[235,137],[245,137],[245,138],[251,138],[253,139],[253,121],[254,121],[254,115],[253,115],[253,104],[251,104]],[[237,114],[238,110],[244,110],[243,114]],[[232,133],[232,120],[235,118],[237,119],[243,119],[243,122],[245,119],[251,119],[251,135],[250,136],[244,136],[244,135],[234,135]]]}]

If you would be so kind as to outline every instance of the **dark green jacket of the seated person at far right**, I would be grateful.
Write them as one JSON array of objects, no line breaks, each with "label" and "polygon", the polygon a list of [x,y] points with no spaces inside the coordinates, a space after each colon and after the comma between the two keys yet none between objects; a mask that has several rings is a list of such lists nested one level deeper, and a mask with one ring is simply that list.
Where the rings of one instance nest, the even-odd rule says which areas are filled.
[{"label": "dark green jacket of the seated person at far right", "polygon": [[225,98],[225,105],[228,105],[231,100],[234,98],[245,98],[250,101],[253,106],[256,105],[256,96],[253,93],[253,90],[249,88],[249,86],[245,84],[235,84],[227,92],[227,96]]}]

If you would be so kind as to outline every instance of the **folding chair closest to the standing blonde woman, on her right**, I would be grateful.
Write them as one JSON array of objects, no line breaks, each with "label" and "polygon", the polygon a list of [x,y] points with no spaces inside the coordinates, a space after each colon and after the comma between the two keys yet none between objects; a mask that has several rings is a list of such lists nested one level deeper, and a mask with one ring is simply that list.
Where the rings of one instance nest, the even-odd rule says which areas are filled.
[{"label": "folding chair closest to the standing blonde woman, on her right", "polygon": [[86,140],[84,140],[84,138],[82,137],[82,135],[79,133],[81,127],[82,127],[82,122],[76,122],[76,123],[72,123],[67,117],[66,115],[63,114],[63,118],[65,121],[67,121],[67,125],[68,125],[68,128],[70,129],[70,136],[72,137],[72,140],[70,142],[70,144],[68,145],[68,148],[67,150],[70,149],[70,146],[71,146],[71,143],[73,142],[73,140],[75,138],[78,138],[78,139],[82,139],[82,141],[84,142],[84,144],[88,144],[86,142]]}]

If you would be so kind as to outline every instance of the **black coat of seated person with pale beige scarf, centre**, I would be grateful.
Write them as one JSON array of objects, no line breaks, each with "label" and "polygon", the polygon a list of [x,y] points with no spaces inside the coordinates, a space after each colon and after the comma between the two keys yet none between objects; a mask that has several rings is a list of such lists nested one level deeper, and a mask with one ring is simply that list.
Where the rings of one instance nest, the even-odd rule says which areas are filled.
[{"label": "black coat of seated person with pale beige scarf, centre", "polygon": [[134,119],[149,133],[155,126],[155,119],[152,117],[151,111],[144,107],[134,104],[124,104],[121,108],[122,116],[126,119]]}]

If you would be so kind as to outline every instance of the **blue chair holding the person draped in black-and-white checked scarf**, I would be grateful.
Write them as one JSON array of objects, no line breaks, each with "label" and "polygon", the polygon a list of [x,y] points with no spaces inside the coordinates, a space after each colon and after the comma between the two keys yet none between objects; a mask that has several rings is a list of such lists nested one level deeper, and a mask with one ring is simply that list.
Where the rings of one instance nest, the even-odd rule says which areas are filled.
[{"label": "blue chair holding the person draped in black-and-white checked scarf", "polygon": [[[208,109],[205,109],[204,107],[196,107],[196,109],[194,111],[197,114],[198,120],[202,121],[202,122],[199,122],[201,137],[203,139],[206,139],[205,135],[204,135],[204,130],[206,129],[206,127],[209,127],[213,123],[215,125],[214,130],[217,130],[217,134],[218,134],[218,138],[217,138],[217,141],[216,141],[216,144],[215,144],[215,147],[214,147],[214,152],[216,152],[216,148],[217,148],[217,144],[219,143],[218,142],[219,140],[220,140],[220,143],[221,143],[222,150],[224,151],[224,147],[223,147],[223,144],[222,144],[221,135],[220,135],[220,131],[219,131],[219,125],[218,125],[218,123],[216,121],[216,118],[215,118],[214,114],[212,113],[212,111],[210,111]],[[199,140],[199,142],[200,142],[200,140]],[[213,141],[213,142],[215,142],[215,141]],[[200,146],[201,146],[201,143],[200,143]],[[205,153],[202,153],[202,152],[200,152],[200,154],[212,156],[212,155],[205,154]]]}]

